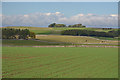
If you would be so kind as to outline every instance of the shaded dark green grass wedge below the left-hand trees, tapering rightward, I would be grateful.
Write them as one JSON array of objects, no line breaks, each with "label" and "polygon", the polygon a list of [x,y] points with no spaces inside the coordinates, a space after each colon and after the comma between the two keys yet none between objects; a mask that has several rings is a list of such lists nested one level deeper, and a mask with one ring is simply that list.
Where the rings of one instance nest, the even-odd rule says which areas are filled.
[{"label": "shaded dark green grass wedge below the left-hand trees, tapering rightward", "polygon": [[3,40],[3,46],[42,46],[42,45],[68,45],[67,43],[55,43],[37,40]]}]

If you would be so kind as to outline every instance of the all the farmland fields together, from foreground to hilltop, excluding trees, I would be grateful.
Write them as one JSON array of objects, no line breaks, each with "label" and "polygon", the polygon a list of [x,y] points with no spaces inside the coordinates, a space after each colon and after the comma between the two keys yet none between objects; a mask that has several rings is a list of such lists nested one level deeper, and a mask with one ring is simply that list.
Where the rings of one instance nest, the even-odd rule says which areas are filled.
[{"label": "all the farmland fields together, from foreground to hilltop, excluding trees", "polygon": [[118,38],[61,35],[68,29],[109,30],[9,28],[29,29],[36,38],[3,39],[3,78],[118,78]]}]

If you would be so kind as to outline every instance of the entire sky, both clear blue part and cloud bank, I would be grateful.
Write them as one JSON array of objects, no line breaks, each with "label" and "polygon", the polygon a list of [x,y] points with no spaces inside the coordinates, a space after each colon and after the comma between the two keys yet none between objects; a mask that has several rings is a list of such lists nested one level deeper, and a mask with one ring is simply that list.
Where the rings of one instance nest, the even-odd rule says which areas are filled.
[{"label": "entire sky, both clear blue part and cloud bank", "polygon": [[46,27],[49,24],[117,26],[117,2],[3,2],[3,26]]}]

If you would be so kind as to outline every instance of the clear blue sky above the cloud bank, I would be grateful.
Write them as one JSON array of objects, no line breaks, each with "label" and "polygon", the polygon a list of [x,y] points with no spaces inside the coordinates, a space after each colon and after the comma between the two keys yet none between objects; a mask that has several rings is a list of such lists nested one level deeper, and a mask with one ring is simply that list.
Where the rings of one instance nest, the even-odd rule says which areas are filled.
[{"label": "clear blue sky above the cloud bank", "polygon": [[61,12],[65,16],[78,13],[117,14],[117,2],[3,2],[3,14]]}]

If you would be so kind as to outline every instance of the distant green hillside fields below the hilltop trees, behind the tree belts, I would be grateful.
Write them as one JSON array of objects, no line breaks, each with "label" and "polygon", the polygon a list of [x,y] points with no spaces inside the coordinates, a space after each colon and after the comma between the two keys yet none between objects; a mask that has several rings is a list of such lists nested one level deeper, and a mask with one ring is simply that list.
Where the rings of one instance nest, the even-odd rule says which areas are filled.
[{"label": "distant green hillside fields below the hilltop trees, behind the tree belts", "polygon": [[[102,28],[47,28],[47,27],[27,27],[27,26],[10,26],[7,28],[15,28],[15,29],[29,29],[30,31],[35,32],[36,34],[60,34],[62,30],[70,30],[70,29],[84,29],[84,30],[94,30],[94,31],[103,31],[108,32],[110,30],[103,30]],[[118,30],[118,29],[112,29]]]}]

